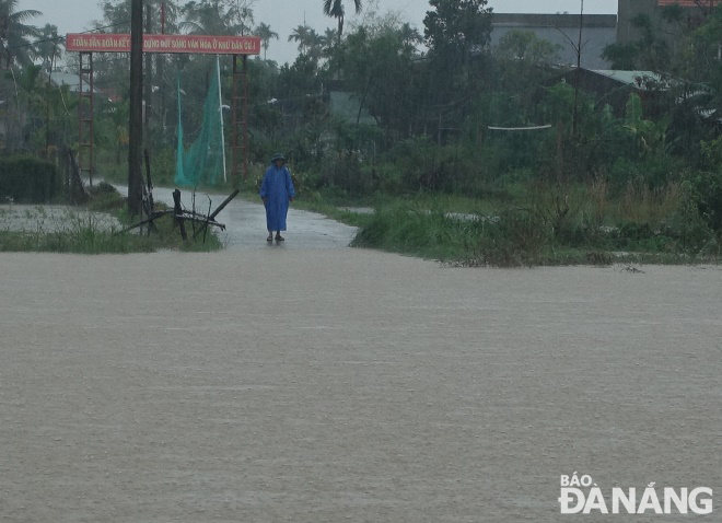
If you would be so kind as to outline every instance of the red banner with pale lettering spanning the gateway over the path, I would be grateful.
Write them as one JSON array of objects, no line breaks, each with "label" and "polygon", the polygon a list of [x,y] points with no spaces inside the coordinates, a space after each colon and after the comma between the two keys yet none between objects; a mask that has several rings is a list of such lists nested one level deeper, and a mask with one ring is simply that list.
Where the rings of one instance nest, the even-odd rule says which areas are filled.
[{"label": "red banner with pale lettering spanning the gateway over the path", "polygon": [[[66,37],[66,50],[79,53],[130,53],[130,35],[69,33]],[[143,53],[260,55],[260,37],[143,35]]]}]

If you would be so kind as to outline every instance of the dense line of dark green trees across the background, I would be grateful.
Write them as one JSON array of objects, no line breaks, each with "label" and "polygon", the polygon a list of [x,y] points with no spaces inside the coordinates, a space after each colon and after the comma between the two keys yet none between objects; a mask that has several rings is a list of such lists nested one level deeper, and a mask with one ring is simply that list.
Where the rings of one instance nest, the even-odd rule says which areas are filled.
[{"label": "dense line of dark green trees across the background", "polygon": [[[664,28],[639,16],[640,40],[609,46],[605,57],[614,67],[655,71],[657,83],[641,92],[619,86],[619,92],[599,94],[564,77],[559,49],[534,33],[512,31],[491,46],[493,12],[486,0],[429,0],[423,27],[395,13],[372,13],[347,24],[346,10],[358,12],[359,1],[319,0],[318,9],[336,19],[336,27],[318,34],[296,26],[288,39],[298,44],[299,54],[283,65],[266,58],[280,36],[272,25],[256,23],[253,2],[151,0],[149,32],[159,32],[161,3],[166,33],[261,38],[264,54],[248,60],[251,159],[264,164],[272,152],[283,151],[302,189],[504,197],[520,185],[544,183],[562,194],[570,184],[584,184],[604,186],[609,198],[636,195],[641,200],[644,195],[663,199],[684,187],[702,221],[719,229],[719,8],[706,11],[695,26],[682,23],[678,8],[664,11]],[[24,24],[35,12],[13,11],[15,5],[14,0],[0,1],[0,36],[3,63],[26,95],[20,105],[25,105],[28,127],[21,141],[38,146],[51,136],[72,142],[72,96],[33,84],[33,58],[53,61],[61,45],[51,27],[43,30],[47,38],[33,33]],[[96,30],[127,32],[129,19],[128,1],[106,1]],[[672,39],[669,23],[676,31]],[[72,65],[72,57],[66,62]],[[210,58],[191,55],[154,56],[147,62],[144,136],[168,171],[176,146],[178,77],[188,104],[184,125],[194,129],[202,118],[212,67]],[[113,88],[117,100],[100,104],[96,143],[106,150],[106,160],[120,163],[127,143],[128,58],[101,56],[95,71],[96,85]],[[8,98],[7,75],[2,82]],[[222,83],[230,104],[228,59]],[[613,95],[624,103],[610,104]],[[564,213],[563,200],[555,213]]]}]

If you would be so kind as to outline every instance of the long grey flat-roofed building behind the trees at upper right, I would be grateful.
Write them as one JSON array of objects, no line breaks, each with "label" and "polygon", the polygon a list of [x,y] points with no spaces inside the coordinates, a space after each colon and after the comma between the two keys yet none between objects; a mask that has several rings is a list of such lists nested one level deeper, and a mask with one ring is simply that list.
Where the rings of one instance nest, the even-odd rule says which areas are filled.
[{"label": "long grey flat-roofed building behind the trees at upper right", "polygon": [[[634,0],[636,1],[636,0]],[[577,66],[580,20],[582,27],[582,67],[608,69],[609,62],[602,51],[617,38],[617,16],[614,14],[519,14],[497,13],[491,16],[491,45],[497,46],[511,31],[531,31],[559,48],[559,63]]]}]

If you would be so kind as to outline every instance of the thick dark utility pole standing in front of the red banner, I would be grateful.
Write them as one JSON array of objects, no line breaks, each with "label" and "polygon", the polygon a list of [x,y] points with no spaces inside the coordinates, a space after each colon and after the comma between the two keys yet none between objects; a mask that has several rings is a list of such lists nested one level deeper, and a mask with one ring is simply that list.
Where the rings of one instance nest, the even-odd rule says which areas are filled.
[{"label": "thick dark utility pole standing in front of the red banner", "polygon": [[128,211],[140,214],[143,146],[143,0],[130,4],[130,121],[128,149]]}]

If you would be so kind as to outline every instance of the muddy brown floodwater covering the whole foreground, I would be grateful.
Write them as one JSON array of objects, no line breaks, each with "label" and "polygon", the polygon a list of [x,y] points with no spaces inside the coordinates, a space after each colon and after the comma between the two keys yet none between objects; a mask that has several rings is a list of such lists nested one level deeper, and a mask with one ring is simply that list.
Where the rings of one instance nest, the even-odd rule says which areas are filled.
[{"label": "muddy brown floodwater covering the whole foreground", "polygon": [[641,270],[0,254],[0,521],[722,521],[722,270]]}]

